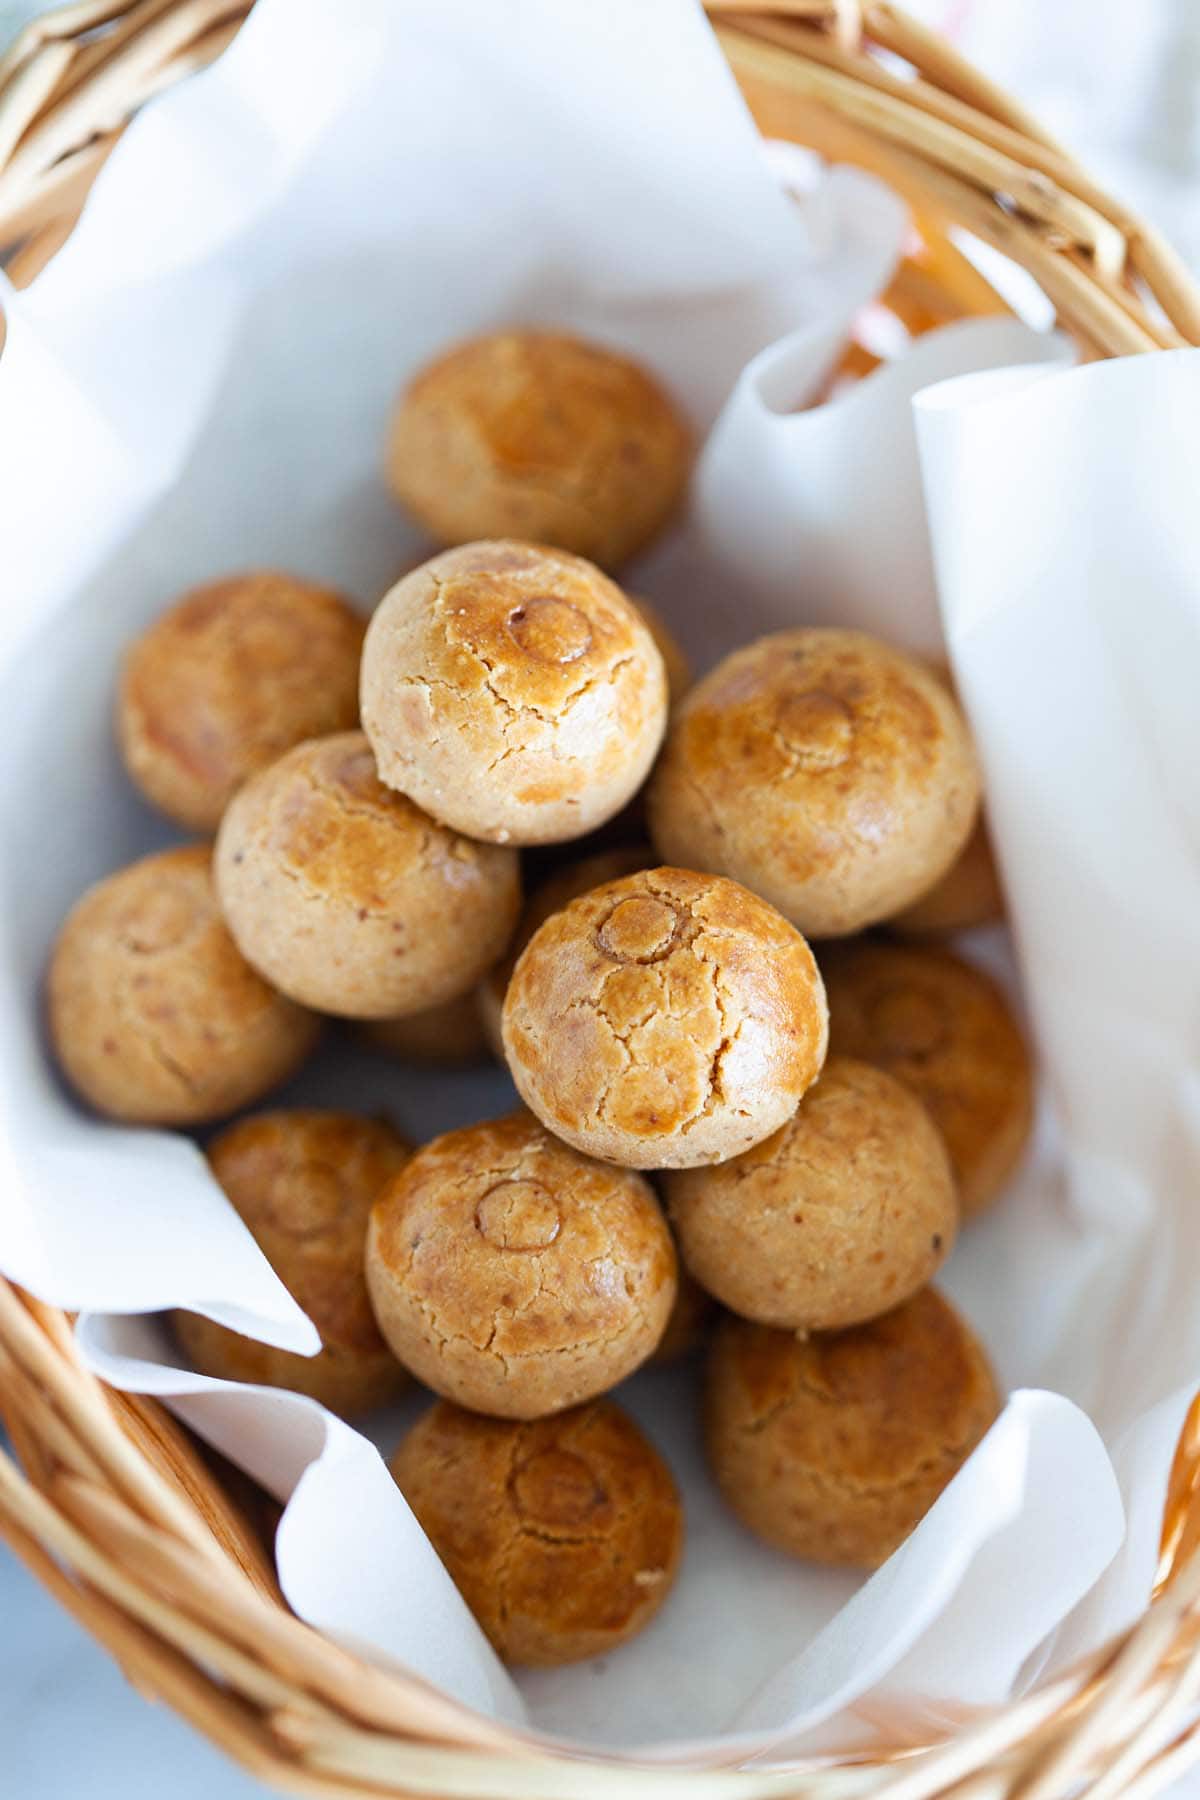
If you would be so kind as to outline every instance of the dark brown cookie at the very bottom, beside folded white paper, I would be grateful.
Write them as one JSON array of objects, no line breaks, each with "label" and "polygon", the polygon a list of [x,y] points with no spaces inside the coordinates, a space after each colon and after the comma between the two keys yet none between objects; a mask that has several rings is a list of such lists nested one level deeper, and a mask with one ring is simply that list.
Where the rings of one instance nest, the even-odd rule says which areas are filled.
[{"label": "dark brown cookie at the very bottom, beside folded white paper", "polygon": [[680,1494],[612,1400],[533,1424],[439,1400],[390,1471],[507,1663],[603,1656],[637,1636],[671,1591]]}]

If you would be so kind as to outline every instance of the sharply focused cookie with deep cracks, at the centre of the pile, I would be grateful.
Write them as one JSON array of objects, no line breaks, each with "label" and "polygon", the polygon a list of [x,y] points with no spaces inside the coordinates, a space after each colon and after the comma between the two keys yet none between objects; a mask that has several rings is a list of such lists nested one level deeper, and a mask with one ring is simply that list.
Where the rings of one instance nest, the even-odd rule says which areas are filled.
[{"label": "sharply focused cookie with deep cracks, at the centre of the pile", "polygon": [[813,954],[720,875],[646,869],[549,918],[504,1001],[522,1100],[590,1156],[720,1163],[795,1111],[826,1055]]}]

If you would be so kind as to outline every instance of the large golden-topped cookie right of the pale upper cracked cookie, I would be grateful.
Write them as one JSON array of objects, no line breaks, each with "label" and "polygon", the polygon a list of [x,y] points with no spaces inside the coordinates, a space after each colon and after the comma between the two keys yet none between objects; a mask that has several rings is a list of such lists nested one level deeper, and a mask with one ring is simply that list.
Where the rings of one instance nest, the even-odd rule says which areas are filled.
[{"label": "large golden-topped cookie right of the pale upper cracked cookie", "polygon": [[725,657],[676,709],[646,794],[658,855],[745,882],[813,938],[889,918],[979,810],[963,713],[916,657],[797,630]]}]

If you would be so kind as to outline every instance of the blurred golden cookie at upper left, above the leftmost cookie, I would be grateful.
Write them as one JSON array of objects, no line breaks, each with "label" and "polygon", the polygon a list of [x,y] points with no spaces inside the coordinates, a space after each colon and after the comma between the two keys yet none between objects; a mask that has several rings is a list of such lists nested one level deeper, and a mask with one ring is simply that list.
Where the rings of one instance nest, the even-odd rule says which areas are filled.
[{"label": "blurred golden cookie at upper left, above the leftmost cookie", "polygon": [[216,832],[248,776],[358,724],[365,621],[279,569],[196,587],[130,644],[117,738],[146,799]]}]

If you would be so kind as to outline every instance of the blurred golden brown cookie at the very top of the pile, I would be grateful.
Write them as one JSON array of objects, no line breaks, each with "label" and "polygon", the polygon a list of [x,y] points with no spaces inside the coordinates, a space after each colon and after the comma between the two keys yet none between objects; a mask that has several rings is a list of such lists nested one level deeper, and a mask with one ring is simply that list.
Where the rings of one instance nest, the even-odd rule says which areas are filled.
[{"label": "blurred golden brown cookie at the very top of the pile", "polygon": [[619,567],[676,511],[691,432],[628,356],[560,331],[455,344],[401,394],[396,499],[439,544],[536,538]]}]

